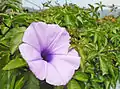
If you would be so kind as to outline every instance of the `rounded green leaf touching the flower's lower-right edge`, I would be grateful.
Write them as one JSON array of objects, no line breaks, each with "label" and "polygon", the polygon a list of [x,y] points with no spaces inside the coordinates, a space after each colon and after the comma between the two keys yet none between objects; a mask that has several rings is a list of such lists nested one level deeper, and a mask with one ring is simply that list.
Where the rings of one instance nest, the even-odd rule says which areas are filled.
[{"label": "rounded green leaf touching the flower's lower-right edge", "polygon": [[84,72],[77,71],[75,75],[73,76],[74,79],[79,80],[79,81],[84,81],[87,82],[89,79],[89,75],[87,75]]}]

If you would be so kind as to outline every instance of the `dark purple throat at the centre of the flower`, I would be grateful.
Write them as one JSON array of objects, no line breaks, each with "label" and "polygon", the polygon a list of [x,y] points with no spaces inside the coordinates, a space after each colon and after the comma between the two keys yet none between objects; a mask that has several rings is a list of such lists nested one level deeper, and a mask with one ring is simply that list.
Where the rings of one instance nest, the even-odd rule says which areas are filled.
[{"label": "dark purple throat at the centre of the flower", "polygon": [[50,62],[52,60],[52,55],[50,54],[49,50],[44,49],[41,52],[41,56],[42,56],[44,61]]}]

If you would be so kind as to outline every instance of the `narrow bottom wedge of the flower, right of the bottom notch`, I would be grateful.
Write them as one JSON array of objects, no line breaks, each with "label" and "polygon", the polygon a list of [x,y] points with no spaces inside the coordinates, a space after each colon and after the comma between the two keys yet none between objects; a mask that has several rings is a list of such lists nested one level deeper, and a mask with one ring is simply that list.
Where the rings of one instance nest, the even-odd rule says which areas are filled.
[{"label": "narrow bottom wedge of the flower, right of the bottom notch", "polygon": [[50,63],[48,63],[46,82],[55,86],[65,85],[56,68]]}]

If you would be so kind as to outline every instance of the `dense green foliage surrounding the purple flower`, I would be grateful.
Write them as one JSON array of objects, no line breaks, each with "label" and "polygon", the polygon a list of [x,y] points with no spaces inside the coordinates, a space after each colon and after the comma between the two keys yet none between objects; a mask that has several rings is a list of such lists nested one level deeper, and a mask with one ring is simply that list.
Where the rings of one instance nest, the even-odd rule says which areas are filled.
[{"label": "dense green foliage surrounding the purple flower", "polygon": [[[0,89],[113,89],[120,79],[120,17],[100,18],[102,2],[80,8],[65,3],[29,12],[19,0],[0,0]],[[71,35],[81,56],[80,68],[66,86],[40,81],[29,70],[18,46],[33,21],[59,24]]]}]

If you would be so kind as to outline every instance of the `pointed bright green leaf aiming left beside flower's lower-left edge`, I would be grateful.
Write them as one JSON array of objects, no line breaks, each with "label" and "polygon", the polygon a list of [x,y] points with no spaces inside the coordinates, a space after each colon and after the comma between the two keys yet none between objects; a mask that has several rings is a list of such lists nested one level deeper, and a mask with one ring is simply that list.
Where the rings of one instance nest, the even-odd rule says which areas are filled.
[{"label": "pointed bright green leaf aiming left beside flower's lower-left edge", "polygon": [[5,65],[3,70],[11,70],[23,66],[26,66],[26,62],[21,58],[16,58],[14,60],[11,60],[7,65]]}]

